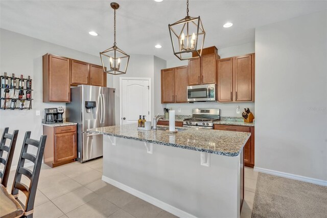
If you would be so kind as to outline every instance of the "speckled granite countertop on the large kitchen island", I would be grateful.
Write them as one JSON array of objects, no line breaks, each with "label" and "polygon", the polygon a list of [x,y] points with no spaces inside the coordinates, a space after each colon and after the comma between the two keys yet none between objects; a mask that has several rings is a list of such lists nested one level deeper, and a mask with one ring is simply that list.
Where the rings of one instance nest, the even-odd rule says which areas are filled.
[{"label": "speckled granite countertop on the large kitchen island", "polygon": [[[163,126],[165,127],[165,126]],[[150,142],[223,156],[238,156],[250,133],[198,128],[185,129],[177,134],[165,130],[137,130],[137,124],[106,126],[88,129],[88,132]]]}]

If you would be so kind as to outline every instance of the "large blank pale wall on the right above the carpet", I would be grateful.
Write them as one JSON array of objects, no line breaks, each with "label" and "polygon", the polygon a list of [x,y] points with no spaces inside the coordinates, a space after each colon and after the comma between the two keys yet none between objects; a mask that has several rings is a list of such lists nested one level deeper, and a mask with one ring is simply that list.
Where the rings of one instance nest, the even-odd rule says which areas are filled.
[{"label": "large blank pale wall on the right above the carpet", "polygon": [[327,184],[326,27],[323,11],[255,30],[255,166],[320,184]]}]

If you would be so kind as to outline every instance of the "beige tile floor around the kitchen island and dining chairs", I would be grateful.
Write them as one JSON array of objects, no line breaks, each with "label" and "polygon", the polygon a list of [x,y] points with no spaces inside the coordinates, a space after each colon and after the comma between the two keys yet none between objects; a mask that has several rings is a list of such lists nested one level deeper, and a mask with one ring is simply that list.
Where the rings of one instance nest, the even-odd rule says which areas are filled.
[{"label": "beige tile floor around the kitchen island and dining chairs", "polygon": [[[11,190],[15,171],[10,172]],[[42,164],[34,204],[34,218],[51,217],[176,217],[101,180],[102,159],[51,168]],[[245,168],[242,218],[251,217],[258,172]],[[26,178],[24,178],[27,180]],[[19,199],[24,202],[25,195]]]}]

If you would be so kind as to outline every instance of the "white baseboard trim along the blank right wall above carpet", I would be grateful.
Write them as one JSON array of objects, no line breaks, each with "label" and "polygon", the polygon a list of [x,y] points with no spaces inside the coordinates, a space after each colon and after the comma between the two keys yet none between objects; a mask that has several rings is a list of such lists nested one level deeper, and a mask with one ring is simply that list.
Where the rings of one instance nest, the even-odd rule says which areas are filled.
[{"label": "white baseboard trim along the blank right wall above carpet", "polygon": [[287,173],[287,172],[281,172],[281,171],[276,171],[276,170],[272,170],[272,169],[265,169],[265,168],[256,167],[256,166],[253,168],[253,170],[258,171],[258,172],[267,173],[267,174],[274,175],[274,176],[285,177],[285,178],[289,178],[289,179],[293,179],[293,180],[299,180],[299,181],[303,181],[303,182],[313,183],[316,185],[327,186],[327,181],[325,181],[325,180],[318,180],[318,179],[314,179],[314,178],[310,178],[310,177],[298,176],[298,175]]}]

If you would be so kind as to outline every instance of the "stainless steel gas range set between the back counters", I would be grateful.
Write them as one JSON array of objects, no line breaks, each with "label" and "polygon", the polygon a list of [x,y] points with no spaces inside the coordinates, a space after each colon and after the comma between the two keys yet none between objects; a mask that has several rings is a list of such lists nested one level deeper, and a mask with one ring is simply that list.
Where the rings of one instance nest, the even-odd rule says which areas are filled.
[{"label": "stainless steel gas range set between the back counters", "polygon": [[183,127],[213,129],[217,120],[220,120],[220,109],[193,109],[192,117],[183,120]]}]

